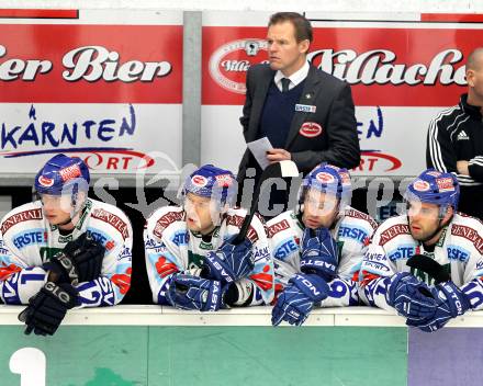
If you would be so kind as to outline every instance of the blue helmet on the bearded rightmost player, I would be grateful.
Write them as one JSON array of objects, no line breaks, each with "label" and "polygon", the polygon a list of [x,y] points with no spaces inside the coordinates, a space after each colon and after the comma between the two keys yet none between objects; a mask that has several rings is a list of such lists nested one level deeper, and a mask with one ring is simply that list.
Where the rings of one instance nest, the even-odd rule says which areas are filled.
[{"label": "blue helmet on the bearded rightmost player", "polygon": [[448,206],[452,206],[454,211],[458,208],[460,185],[453,173],[428,169],[407,186],[404,198],[436,204],[440,207],[440,216],[442,217]]}]

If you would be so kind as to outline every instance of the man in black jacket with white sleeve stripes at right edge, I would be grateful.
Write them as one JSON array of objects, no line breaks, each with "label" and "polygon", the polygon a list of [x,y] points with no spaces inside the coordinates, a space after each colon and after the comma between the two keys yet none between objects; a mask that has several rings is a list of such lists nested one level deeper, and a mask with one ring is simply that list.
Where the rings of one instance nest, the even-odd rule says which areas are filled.
[{"label": "man in black jacket with white sleeve stripes at right edge", "polygon": [[483,47],[467,60],[468,93],[445,110],[428,129],[426,163],[458,175],[459,211],[483,219]]}]

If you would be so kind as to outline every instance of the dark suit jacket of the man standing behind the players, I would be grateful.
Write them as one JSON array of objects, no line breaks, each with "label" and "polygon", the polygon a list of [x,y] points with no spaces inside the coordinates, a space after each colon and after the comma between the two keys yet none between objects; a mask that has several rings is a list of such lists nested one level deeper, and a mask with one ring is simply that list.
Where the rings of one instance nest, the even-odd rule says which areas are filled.
[{"label": "dark suit jacket of the man standing behind the players", "polygon": [[[239,120],[247,143],[257,138],[265,99],[274,75],[268,65],[248,69],[246,101]],[[299,103],[316,106],[315,113],[295,112],[284,146],[299,170],[306,174],[322,161],[348,169],[359,166],[360,148],[349,84],[311,66]],[[319,124],[322,134],[312,138],[300,134],[304,122]],[[238,169],[239,182],[254,162],[247,149]]]}]

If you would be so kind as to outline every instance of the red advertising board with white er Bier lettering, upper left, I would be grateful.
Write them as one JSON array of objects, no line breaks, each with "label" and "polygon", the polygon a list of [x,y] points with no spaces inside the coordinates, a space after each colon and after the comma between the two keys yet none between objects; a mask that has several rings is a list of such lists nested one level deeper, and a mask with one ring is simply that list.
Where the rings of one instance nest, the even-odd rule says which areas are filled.
[{"label": "red advertising board with white er Bier lettering, upper left", "polygon": [[181,25],[0,24],[0,102],[181,103]]}]

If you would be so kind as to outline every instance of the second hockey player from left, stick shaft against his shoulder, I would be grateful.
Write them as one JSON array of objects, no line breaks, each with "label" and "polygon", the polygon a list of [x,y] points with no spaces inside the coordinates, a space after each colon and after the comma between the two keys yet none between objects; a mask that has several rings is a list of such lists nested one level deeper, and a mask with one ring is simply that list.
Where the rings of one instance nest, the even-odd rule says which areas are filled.
[{"label": "second hockey player from left, stick shaft against his shoulder", "polygon": [[186,180],[181,206],[161,207],[147,219],[154,303],[215,311],[271,302],[273,263],[260,218],[242,243],[232,243],[246,215],[232,207],[236,193],[231,171],[206,164]]}]

